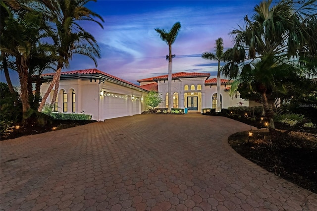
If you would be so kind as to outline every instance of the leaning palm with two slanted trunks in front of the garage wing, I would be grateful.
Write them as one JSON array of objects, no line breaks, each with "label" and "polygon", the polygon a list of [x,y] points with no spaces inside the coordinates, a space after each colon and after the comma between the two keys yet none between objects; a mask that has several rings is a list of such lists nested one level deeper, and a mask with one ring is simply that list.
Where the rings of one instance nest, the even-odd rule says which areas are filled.
[{"label": "leaning palm with two slanted trunks in front of the garage wing", "polygon": [[100,49],[97,45],[97,41],[89,32],[85,31],[79,25],[79,21],[86,20],[96,22],[103,28],[103,25],[94,18],[97,17],[102,22],[104,22],[104,19],[99,14],[85,7],[85,4],[89,1],[90,0],[42,1],[46,5],[45,9],[47,10],[49,19],[54,24],[52,37],[56,47],[58,60],[56,73],[54,74],[49,89],[42,98],[38,111],[42,111],[54,86],[55,89],[51,104],[55,102],[61,70],[63,67],[69,65],[69,60],[72,58],[73,54],[78,53],[90,57],[97,67],[96,56],[100,58]]}]

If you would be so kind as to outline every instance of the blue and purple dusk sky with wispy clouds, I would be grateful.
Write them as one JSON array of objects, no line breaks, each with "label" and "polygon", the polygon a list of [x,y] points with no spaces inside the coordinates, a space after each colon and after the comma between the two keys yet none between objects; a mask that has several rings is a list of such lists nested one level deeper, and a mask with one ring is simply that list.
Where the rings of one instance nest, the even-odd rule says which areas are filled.
[{"label": "blue and purple dusk sky with wispy clouds", "polygon": [[[104,19],[104,29],[95,23],[83,22],[100,48],[102,58],[97,69],[136,83],[138,79],[167,74],[168,46],[155,28],[169,31],[176,22],[181,30],[172,45],[173,72],[210,72],[216,75],[216,61],[201,58],[204,52],[214,52],[215,40],[223,38],[224,48],[233,46],[228,33],[243,26],[245,15],[251,16],[259,0],[98,0],[88,7]],[[74,55],[70,67],[63,71],[95,68],[94,62]],[[14,72],[13,84],[19,85]],[[3,73],[1,81],[5,82]]]}]

